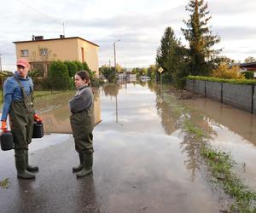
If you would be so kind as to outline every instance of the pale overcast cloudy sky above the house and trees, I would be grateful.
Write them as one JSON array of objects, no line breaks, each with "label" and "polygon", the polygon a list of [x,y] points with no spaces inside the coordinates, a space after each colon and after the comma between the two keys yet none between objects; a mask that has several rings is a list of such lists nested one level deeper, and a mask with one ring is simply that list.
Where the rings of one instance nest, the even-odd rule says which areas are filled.
[{"label": "pale overcast cloudy sky above the house and trees", "polygon": [[[100,45],[99,65],[111,60],[124,67],[154,64],[156,49],[167,26],[186,41],[180,30],[189,14],[189,0],[3,0],[0,8],[0,54],[3,70],[15,70],[15,41],[32,34],[55,38],[83,37]],[[216,48],[234,60],[256,57],[256,1],[209,0],[212,32],[221,37]]]}]

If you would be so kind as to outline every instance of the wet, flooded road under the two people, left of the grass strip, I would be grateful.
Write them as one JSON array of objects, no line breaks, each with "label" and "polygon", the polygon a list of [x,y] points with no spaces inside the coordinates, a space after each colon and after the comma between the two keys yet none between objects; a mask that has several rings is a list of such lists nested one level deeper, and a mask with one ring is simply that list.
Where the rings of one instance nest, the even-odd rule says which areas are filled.
[{"label": "wet, flooded road under the two people, left of the grass strip", "polygon": [[[16,178],[14,151],[0,151],[0,181],[8,178],[7,188],[0,187],[0,212],[223,209],[219,194],[197,167],[193,150],[184,144],[175,118],[159,104],[154,89],[139,84],[108,86],[100,89],[97,99],[102,122],[94,130],[93,175],[77,179],[72,173],[79,157],[70,134],[32,141],[30,161],[40,167],[33,181]],[[43,118],[57,108],[41,108]],[[60,130],[61,121],[68,118],[64,111],[51,114],[60,123],[48,130]]]}]

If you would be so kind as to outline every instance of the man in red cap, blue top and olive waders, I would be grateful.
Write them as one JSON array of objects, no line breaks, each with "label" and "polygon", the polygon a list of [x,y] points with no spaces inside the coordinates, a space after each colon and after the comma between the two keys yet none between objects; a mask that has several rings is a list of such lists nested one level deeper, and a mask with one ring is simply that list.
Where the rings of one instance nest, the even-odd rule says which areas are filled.
[{"label": "man in red cap, blue top and olive waders", "polygon": [[42,122],[33,107],[33,83],[27,76],[29,63],[20,59],[16,62],[17,71],[3,84],[2,127],[7,131],[6,119],[9,114],[10,129],[15,142],[15,165],[18,178],[32,179],[31,171],[38,166],[28,164],[28,144],[32,141],[33,121]]}]

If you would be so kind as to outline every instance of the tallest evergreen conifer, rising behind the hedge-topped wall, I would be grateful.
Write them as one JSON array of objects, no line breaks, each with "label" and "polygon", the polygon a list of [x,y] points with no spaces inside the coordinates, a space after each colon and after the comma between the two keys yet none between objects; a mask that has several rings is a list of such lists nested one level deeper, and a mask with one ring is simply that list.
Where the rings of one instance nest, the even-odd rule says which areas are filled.
[{"label": "tallest evergreen conifer, rising behind the hedge-topped wall", "polygon": [[214,60],[221,49],[213,49],[219,43],[220,37],[212,35],[207,26],[212,16],[209,15],[207,3],[204,0],[190,0],[186,6],[189,20],[183,20],[187,29],[182,32],[189,42],[189,72],[191,75],[207,76],[214,66]]}]

